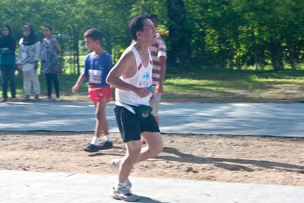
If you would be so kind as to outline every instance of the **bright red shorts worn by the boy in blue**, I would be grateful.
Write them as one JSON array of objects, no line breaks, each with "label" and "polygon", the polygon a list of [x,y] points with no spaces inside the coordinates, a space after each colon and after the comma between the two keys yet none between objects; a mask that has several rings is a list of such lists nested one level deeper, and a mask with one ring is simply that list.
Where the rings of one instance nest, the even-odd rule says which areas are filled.
[{"label": "bright red shorts worn by the boy in blue", "polygon": [[110,102],[110,98],[111,98],[110,86],[89,85],[88,91],[89,91],[89,97],[94,103],[97,103],[99,100],[103,98],[106,98],[106,102]]}]

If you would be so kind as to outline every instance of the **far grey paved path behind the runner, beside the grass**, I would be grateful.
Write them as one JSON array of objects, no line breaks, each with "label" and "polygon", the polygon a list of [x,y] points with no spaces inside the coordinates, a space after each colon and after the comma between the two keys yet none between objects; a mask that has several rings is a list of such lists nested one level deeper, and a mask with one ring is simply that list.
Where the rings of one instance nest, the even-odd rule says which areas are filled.
[{"label": "far grey paved path behind the runner, beside the grass", "polygon": [[[110,132],[119,132],[114,104]],[[95,109],[78,103],[0,103],[0,130],[94,131]],[[304,137],[304,104],[161,104],[164,133]],[[1,132],[0,132],[1,133]]]}]

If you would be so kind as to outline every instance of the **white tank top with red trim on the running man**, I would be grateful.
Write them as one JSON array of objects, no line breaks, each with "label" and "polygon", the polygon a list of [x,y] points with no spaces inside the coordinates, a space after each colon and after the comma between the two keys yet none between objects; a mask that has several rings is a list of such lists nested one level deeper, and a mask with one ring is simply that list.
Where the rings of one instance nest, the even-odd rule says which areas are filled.
[{"label": "white tank top with red trim on the running man", "polygon": [[[152,58],[150,51],[149,52],[149,63],[146,67],[143,66],[140,56],[135,49],[133,45],[127,48],[127,50],[133,51],[135,55],[135,60],[136,60],[136,74],[131,77],[124,79],[123,76],[120,77],[120,79],[126,83],[129,83],[131,85],[134,85],[136,87],[144,87],[148,89],[150,92],[152,91],[152,69],[153,69],[153,63],[152,63]],[[128,105],[134,105],[134,106],[140,106],[140,105],[147,105],[149,106],[149,100],[151,97],[151,93],[144,98],[140,98],[137,96],[134,92],[132,91],[125,91],[116,88],[115,91],[115,98],[116,98],[116,105],[117,106],[122,106],[128,109],[130,112],[134,113],[134,110],[128,106]],[[128,104],[128,105],[126,105]]]}]

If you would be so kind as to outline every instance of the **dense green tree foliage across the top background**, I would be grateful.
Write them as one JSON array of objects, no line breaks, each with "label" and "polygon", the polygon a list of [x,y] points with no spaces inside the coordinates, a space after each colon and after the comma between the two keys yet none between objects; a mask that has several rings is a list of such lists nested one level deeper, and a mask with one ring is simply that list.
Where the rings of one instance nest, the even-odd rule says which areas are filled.
[{"label": "dense green tree foliage across the top background", "polygon": [[[25,24],[42,39],[51,25],[71,64],[78,65],[83,33],[99,28],[115,58],[130,44],[128,21],[140,12],[159,16],[159,32],[172,63],[199,61],[219,67],[249,65],[275,70],[299,66],[304,50],[302,0],[13,0],[0,1],[0,20],[17,41]],[[62,57],[61,59],[63,60]],[[65,58],[66,60],[66,58]]]}]

